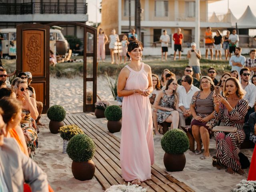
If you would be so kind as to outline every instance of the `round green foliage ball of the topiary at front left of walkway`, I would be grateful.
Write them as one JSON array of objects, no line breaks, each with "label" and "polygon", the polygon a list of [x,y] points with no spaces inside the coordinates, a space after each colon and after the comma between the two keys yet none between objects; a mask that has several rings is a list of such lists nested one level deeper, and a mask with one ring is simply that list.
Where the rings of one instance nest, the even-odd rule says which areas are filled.
[{"label": "round green foliage ball of the topiary at front left of walkway", "polygon": [[95,144],[86,134],[75,135],[68,143],[67,154],[74,162],[91,160],[95,154]]}]

